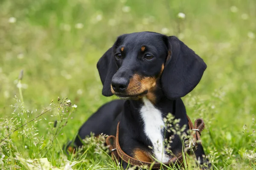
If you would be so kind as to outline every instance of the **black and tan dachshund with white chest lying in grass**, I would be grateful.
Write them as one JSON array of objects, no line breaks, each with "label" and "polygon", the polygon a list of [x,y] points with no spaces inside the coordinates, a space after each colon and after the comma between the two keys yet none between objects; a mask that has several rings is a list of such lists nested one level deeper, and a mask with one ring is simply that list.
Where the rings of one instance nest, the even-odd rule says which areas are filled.
[{"label": "black and tan dachshund with white chest lying in grass", "polygon": [[[172,113],[180,119],[180,127],[188,124],[185,106],[180,99],[192,91],[201,80],[207,65],[194,51],[177,37],[154,32],[124,34],[97,63],[103,84],[102,94],[113,94],[122,100],[103,105],[79,130],[75,144],[90,135],[116,134],[119,144],[128,155],[140,161],[168,162],[172,157],[165,152],[163,118]],[[151,147],[148,147],[151,146]],[[171,143],[174,154],[182,152],[182,140],[175,136]],[[195,151],[203,162],[201,144]],[[127,164],[123,162],[123,167]]]}]

